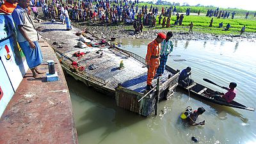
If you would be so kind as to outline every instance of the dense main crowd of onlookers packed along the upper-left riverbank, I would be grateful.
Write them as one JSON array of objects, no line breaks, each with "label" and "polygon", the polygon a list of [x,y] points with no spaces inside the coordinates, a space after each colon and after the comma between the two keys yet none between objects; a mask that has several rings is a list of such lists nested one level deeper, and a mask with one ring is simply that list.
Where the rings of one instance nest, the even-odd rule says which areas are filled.
[{"label": "dense main crowd of onlookers packed along the upper-left riverbank", "polygon": [[[49,2],[49,1],[48,1]],[[171,15],[175,15],[177,8],[170,6],[170,8],[162,8],[159,12],[157,7],[150,8],[142,6],[139,10],[139,1],[67,1],[66,4],[61,4],[60,1],[53,0],[52,4],[42,4],[44,17],[48,19],[60,18],[64,21],[66,17],[75,21],[88,22],[88,24],[117,24],[124,22],[124,24],[133,24],[134,31],[142,31],[143,26],[156,26],[157,16],[158,24],[163,28],[170,27]],[[190,9],[187,10],[186,15],[189,15]],[[57,17],[58,16],[58,17]],[[177,20],[174,25],[182,25],[184,15],[176,14]]]}]

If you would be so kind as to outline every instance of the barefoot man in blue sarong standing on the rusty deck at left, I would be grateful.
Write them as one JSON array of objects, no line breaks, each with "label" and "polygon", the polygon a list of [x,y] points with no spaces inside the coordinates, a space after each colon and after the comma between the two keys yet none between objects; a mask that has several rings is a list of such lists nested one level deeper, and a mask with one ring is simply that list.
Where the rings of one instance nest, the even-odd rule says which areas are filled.
[{"label": "barefoot man in blue sarong standing on the rusty deck at left", "polygon": [[33,73],[33,77],[40,78],[38,74],[42,74],[42,72],[39,72],[36,67],[42,63],[43,57],[38,44],[38,33],[26,11],[29,2],[30,0],[19,0],[12,17],[17,29],[17,40],[26,57],[28,67]]}]

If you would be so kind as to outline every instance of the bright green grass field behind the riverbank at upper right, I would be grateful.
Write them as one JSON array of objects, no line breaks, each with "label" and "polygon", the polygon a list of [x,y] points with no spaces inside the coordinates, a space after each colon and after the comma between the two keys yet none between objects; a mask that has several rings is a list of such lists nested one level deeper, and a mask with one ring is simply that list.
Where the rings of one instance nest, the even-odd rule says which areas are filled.
[{"label": "bright green grass field behind the riverbank at upper right", "polygon": [[[150,10],[150,5],[149,3],[140,3],[139,4],[139,9],[141,9],[142,6],[147,5],[148,10]],[[169,8],[170,5],[156,5],[152,4],[154,8],[158,8],[159,12],[161,12],[162,8]],[[216,10],[216,7],[207,7],[207,6],[176,6],[178,12],[180,13],[186,13],[187,8],[191,8],[191,13],[198,13],[198,10],[200,10],[200,13],[206,13],[207,10]],[[156,27],[155,29],[172,29],[174,31],[189,31],[189,24],[190,22],[193,22],[194,27],[193,31],[200,32],[200,33],[211,33],[214,35],[237,35],[240,33],[241,28],[245,25],[246,32],[251,32],[251,33],[256,33],[256,19],[253,17],[253,14],[255,12],[249,11],[249,19],[244,19],[245,13],[248,12],[247,10],[241,10],[237,8],[220,8],[220,10],[225,10],[228,12],[236,12],[235,19],[230,19],[231,18],[231,13],[229,19],[217,19],[217,17],[205,17],[205,15],[189,15],[186,16],[184,15],[184,19],[182,22],[182,26],[171,26],[171,28],[162,28],[162,26],[157,26],[158,25],[158,16],[156,19]],[[213,23],[212,23],[212,28],[209,28],[209,24],[211,19],[213,18]],[[176,15],[171,17],[171,22],[170,24],[174,24],[176,20]],[[229,31],[222,31],[223,28],[217,28],[219,26],[219,23],[223,22],[223,28],[226,27],[228,23],[230,23],[231,28]]]}]

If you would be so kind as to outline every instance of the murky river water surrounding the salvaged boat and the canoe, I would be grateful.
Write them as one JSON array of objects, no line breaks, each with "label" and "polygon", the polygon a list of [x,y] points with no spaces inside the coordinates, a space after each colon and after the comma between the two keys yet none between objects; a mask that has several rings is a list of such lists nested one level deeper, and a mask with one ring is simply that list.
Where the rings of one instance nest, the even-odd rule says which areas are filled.
[{"label": "murky river water surrounding the salvaged boat and the canoe", "polygon": [[[150,40],[118,42],[122,42],[122,49],[144,58]],[[227,87],[230,81],[235,81],[235,100],[256,107],[256,43],[174,41],[174,45],[167,65],[179,70],[190,66],[192,79],[220,92],[225,90],[202,79]],[[198,143],[256,143],[253,111],[211,104],[177,91],[172,99],[160,102],[157,116],[144,118],[116,107],[114,99],[72,77],[67,77],[67,82],[79,143],[193,143],[192,136]],[[205,120],[205,125],[189,127],[182,123],[179,115],[187,106],[205,108],[198,118],[198,122]]]}]

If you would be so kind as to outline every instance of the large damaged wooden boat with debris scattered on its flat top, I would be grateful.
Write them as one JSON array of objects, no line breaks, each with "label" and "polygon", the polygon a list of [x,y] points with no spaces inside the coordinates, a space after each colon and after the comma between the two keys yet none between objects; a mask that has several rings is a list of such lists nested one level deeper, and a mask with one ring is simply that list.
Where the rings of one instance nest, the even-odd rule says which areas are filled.
[{"label": "large damaged wooden boat with debris scattered on its flat top", "polygon": [[[73,33],[68,31],[66,35],[69,36],[56,36],[60,33],[58,31],[47,31],[41,35],[55,35],[50,42],[66,74],[86,86],[111,95],[117,106],[148,116],[154,112],[156,114],[160,100],[168,99],[174,93],[179,70],[166,66],[163,76],[159,77],[158,90],[155,86],[147,92],[144,58],[120,49],[88,31],[78,32],[76,36],[74,31],[79,29],[73,30]],[[157,79],[152,83],[156,85]]]}]

